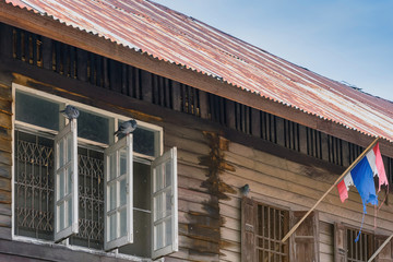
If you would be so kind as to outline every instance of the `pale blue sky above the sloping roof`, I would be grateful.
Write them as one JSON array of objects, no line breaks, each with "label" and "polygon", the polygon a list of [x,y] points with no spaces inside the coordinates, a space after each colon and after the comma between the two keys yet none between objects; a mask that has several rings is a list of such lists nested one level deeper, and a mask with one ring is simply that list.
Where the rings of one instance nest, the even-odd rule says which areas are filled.
[{"label": "pale blue sky above the sloping roof", "polygon": [[393,102],[393,0],[152,0]]}]

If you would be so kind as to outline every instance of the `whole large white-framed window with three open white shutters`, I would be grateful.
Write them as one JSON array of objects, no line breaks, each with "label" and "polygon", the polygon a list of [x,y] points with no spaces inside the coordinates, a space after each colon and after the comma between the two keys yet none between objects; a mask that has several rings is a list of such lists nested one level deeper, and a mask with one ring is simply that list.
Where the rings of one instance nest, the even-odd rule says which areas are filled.
[{"label": "whole large white-framed window with three open white shutters", "polygon": [[[178,249],[177,155],[172,148],[160,156],[160,128],[139,121],[138,131],[116,141],[123,117],[20,85],[14,90],[14,236],[144,258]],[[69,103],[80,109],[78,122],[59,114]],[[69,143],[70,132],[78,134],[75,143]]]}]

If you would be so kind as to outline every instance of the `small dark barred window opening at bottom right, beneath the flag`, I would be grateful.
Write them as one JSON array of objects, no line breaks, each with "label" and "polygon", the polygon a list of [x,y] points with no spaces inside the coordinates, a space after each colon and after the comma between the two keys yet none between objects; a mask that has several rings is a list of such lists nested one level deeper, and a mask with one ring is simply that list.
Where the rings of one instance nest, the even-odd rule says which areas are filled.
[{"label": "small dark barred window opening at bottom right, beneath the flag", "polygon": [[355,242],[358,230],[346,229],[347,235],[347,259],[348,262],[368,261],[374,252],[374,238],[373,235],[361,233],[359,241]]}]

